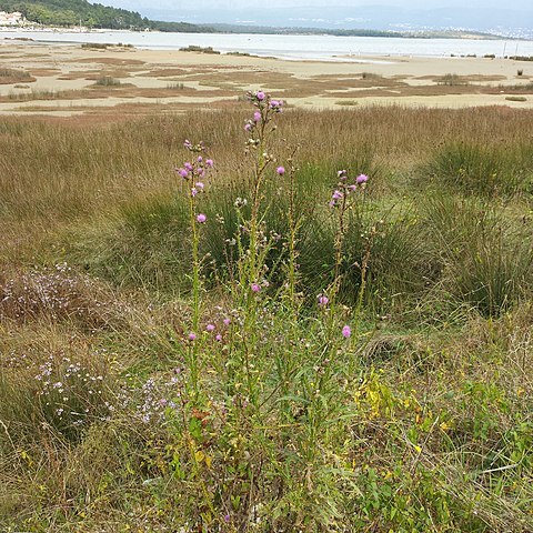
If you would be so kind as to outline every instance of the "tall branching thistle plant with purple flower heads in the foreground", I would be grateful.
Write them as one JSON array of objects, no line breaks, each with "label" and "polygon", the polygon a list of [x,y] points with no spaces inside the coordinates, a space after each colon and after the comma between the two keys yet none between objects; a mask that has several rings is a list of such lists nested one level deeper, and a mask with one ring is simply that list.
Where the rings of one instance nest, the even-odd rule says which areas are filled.
[{"label": "tall branching thistle plant with purple flower heads in the foreground", "polygon": [[[221,329],[225,332],[224,335],[218,333],[217,321],[204,324],[203,332],[200,324],[202,280],[199,241],[201,225],[207,223],[207,217],[200,212],[198,200],[204,191],[203,179],[212,167],[211,160],[203,159],[203,144],[185,142],[194,157],[191,162],[178,169],[178,173],[188,183],[192,243],[192,319],[190,330],[185,333],[190,390],[187,391],[189,402],[183,405],[183,411],[187,410],[190,414],[189,419],[183,420],[183,426],[187,428],[183,435],[191,457],[190,480],[198,483],[203,494],[203,503],[199,503],[198,509],[205,516],[214,516],[217,511],[213,499],[207,491],[205,476],[211,475],[210,466],[202,463],[202,457],[209,456],[211,461],[215,455],[208,451],[207,443],[211,442],[211,436],[208,438],[208,430],[202,425],[203,421],[210,424],[208,419],[213,400],[208,400],[205,394],[201,409],[207,414],[202,418],[202,423],[197,420],[198,413],[194,410],[201,403],[199,376],[204,370],[199,350],[208,349],[203,341],[212,339],[217,333],[215,340],[219,342],[213,342],[209,350],[220,352],[218,361],[223,366],[219,371],[224,380],[220,390],[224,391],[225,413],[218,445],[231,443],[232,447],[221,450],[221,456],[229,457],[228,464],[235,472],[231,486],[221,490],[221,501],[233,501],[228,509],[238,511],[235,515],[242,516],[239,520],[244,527],[245,516],[250,516],[253,507],[247,511],[247,505],[250,506],[252,500],[248,500],[248,495],[241,495],[239,486],[249,487],[247,491],[250,494],[260,493],[261,483],[265,480],[261,481],[261,475],[253,471],[252,464],[268,461],[268,457],[278,453],[272,447],[275,446],[274,441],[265,438],[265,432],[278,431],[276,444],[282,450],[294,450],[295,453],[269,466],[273,469],[269,475],[291,472],[290,477],[283,477],[280,482],[278,490],[283,496],[274,514],[288,512],[284,500],[296,497],[301,510],[306,510],[305,512],[313,514],[314,509],[320,509],[323,516],[316,519],[316,523],[330,526],[334,523],[335,510],[334,505],[330,506],[324,494],[328,487],[336,483],[336,474],[331,474],[321,450],[326,447],[328,435],[345,431],[343,420],[348,402],[346,385],[340,384],[339,375],[345,362],[344,356],[350,354],[350,346],[358,338],[356,332],[352,334],[349,324],[339,328],[338,311],[341,310],[336,308],[336,299],[343,280],[344,241],[351,230],[351,211],[360,209],[368,177],[360,174],[350,179],[346,171],[338,174],[339,182],[330,202],[336,223],[333,281],[319,296],[318,316],[302,313],[298,288],[302,218],[296,207],[295,150],[284,162],[286,168],[276,162],[271,153],[271,137],[276,129],[274,120],[282,112],[283,102],[272,99],[263,91],[249,93],[249,100],[253,105],[253,114],[244,124],[245,149],[251,158],[249,197],[238,198],[234,202],[238,231],[232,241],[238,257],[235,269],[231,269],[235,275],[231,276],[230,283],[229,300],[232,309],[223,319],[227,330]],[[283,213],[286,222],[284,235],[273,234],[266,225],[272,207],[270,202],[273,201],[269,195],[270,185],[280,181],[288,201],[286,213]],[[284,240],[284,251],[279,262],[270,266],[269,253],[280,239]],[[370,253],[370,245],[368,252]],[[369,257],[365,255],[361,301],[368,261]],[[274,272],[283,276],[281,288],[275,292],[269,290],[269,279]],[[255,459],[252,461],[251,456]],[[237,491],[234,495],[233,491]],[[237,501],[241,503],[234,503]],[[298,513],[294,516],[291,513],[292,511],[288,523],[300,523]],[[230,531],[228,524],[233,520],[231,513],[227,514],[224,510],[223,516],[219,522],[223,531]],[[228,521],[225,516],[229,516]],[[212,519],[203,520],[208,523]]]}]

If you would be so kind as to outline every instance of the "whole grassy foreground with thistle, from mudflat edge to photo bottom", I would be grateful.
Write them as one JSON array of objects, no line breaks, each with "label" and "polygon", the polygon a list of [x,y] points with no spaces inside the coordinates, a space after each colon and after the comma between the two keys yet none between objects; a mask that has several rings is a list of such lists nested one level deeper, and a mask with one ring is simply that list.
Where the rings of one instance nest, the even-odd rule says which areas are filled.
[{"label": "whole grassy foreground with thistle, from mudflat edge to photo bottom", "polygon": [[531,531],[533,112],[253,102],[0,124],[0,526]]}]

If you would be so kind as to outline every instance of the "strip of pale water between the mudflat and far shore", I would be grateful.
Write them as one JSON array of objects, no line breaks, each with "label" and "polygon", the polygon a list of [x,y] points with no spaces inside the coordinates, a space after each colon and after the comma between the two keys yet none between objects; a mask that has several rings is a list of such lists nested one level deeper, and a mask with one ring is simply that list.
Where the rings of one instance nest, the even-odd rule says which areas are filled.
[{"label": "strip of pale water between the mudflat and far shore", "polygon": [[[2,39],[3,37],[3,39]],[[43,44],[83,43],[128,46],[141,50],[197,48],[212,53],[241,53],[289,61],[359,62],[363,57],[479,57],[533,56],[533,41],[485,39],[420,39],[250,33],[139,32],[129,30],[24,29],[0,30],[0,41]]]}]

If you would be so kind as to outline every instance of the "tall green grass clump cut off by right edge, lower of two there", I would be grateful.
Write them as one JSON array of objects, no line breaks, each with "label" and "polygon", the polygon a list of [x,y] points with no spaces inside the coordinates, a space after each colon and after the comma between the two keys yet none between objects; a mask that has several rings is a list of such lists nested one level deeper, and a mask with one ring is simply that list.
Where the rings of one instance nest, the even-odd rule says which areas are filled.
[{"label": "tall green grass clump cut off by right edge, lower of two there", "polygon": [[434,195],[423,212],[441,289],[486,316],[530,296],[531,240],[520,223],[490,203],[460,195]]}]

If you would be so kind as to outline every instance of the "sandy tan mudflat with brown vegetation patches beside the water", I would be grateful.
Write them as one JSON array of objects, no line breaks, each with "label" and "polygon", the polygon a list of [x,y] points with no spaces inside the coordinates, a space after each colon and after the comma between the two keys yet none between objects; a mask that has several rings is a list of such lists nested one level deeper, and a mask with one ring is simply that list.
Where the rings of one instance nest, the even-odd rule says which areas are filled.
[{"label": "sandy tan mudflat with brown vegetation patches beside the water", "polygon": [[[124,115],[227,107],[262,88],[311,109],[369,104],[533,107],[533,63],[487,58],[350,57],[284,61],[0,41],[0,114]],[[522,76],[517,76],[522,70]],[[28,76],[29,74],[29,76]],[[6,74],[4,74],[6,76]],[[105,81],[107,80],[107,81]]]}]

